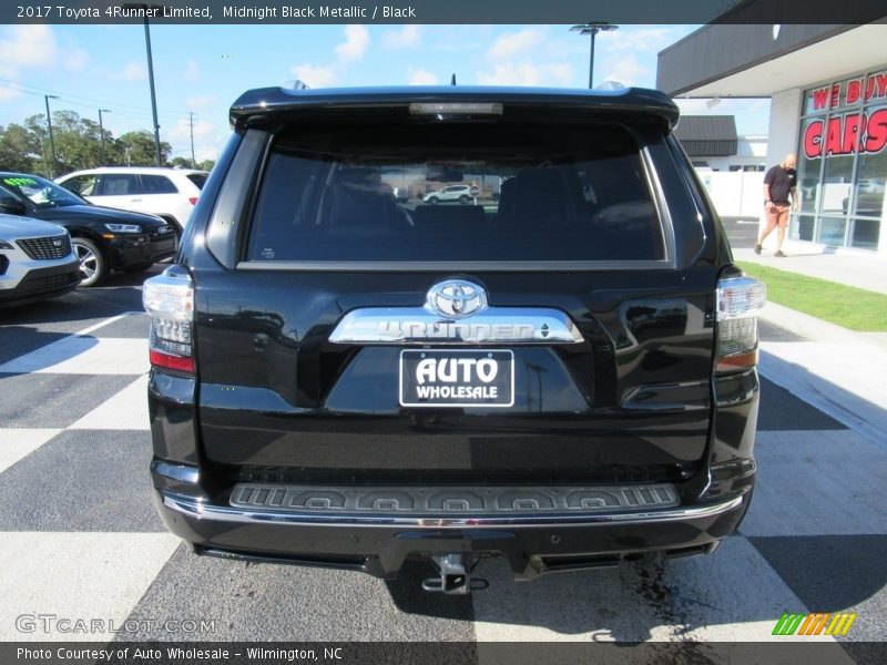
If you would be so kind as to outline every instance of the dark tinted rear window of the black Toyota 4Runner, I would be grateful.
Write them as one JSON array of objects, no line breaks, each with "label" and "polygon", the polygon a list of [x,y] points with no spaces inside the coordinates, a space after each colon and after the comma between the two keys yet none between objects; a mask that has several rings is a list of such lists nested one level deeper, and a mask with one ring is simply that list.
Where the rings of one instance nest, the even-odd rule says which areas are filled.
[{"label": "dark tinted rear window of the black Toyota 4Runner", "polygon": [[659,260],[639,147],[619,125],[299,126],[278,134],[249,260]]}]

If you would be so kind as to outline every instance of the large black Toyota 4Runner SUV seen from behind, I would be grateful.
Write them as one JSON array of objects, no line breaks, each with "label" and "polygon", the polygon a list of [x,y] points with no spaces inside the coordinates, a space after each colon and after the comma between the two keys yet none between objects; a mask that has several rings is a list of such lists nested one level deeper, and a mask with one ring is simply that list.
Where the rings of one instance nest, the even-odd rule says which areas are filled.
[{"label": "large black Toyota 4Runner SUV seen from behind", "polygon": [[169,529],[387,579],[430,557],[451,593],[488,555],[711,552],[752,497],[765,294],[677,116],[638,89],[241,96],[144,287]]}]

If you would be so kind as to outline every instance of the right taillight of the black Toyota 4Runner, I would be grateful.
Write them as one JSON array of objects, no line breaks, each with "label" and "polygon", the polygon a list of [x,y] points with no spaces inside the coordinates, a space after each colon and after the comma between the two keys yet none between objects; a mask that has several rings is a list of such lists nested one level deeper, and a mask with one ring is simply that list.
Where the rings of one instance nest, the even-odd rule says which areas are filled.
[{"label": "right taillight of the black Toyota 4Runner", "polygon": [[716,374],[757,365],[757,311],[766,300],[767,288],[752,277],[730,277],[717,283]]}]

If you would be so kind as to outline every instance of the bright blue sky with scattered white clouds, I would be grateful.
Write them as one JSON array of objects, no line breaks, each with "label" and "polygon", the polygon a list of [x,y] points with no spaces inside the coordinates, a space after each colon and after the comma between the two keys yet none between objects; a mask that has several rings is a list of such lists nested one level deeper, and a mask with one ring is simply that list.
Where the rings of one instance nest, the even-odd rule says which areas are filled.
[{"label": "bright blue sky with scattered white clouds", "polygon": [[[597,38],[594,82],[655,86],[659,51],[696,25],[623,25]],[[246,90],[295,79],[312,88],[461,84],[587,88],[589,38],[569,25],[151,27],[161,139],[197,161],[230,135],[227,110]],[[0,27],[0,125],[68,109],[114,135],[151,130],[144,28]],[[736,115],[740,134],[766,134],[768,100],[677,100],[683,113]]]}]

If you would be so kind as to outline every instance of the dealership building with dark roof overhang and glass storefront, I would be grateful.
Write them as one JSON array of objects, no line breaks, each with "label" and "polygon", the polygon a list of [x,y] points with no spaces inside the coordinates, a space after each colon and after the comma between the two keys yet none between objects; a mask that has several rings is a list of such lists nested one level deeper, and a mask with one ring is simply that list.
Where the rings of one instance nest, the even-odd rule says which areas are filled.
[{"label": "dealership building with dark roof overhang and glass storefront", "polygon": [[[798,156],[793,243],[887,258],[887,24],[710,24],[659,54],[674,98],[769,98],[767,166]],[[763,196],[762,196],[763,208]]]}]

